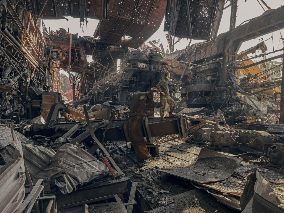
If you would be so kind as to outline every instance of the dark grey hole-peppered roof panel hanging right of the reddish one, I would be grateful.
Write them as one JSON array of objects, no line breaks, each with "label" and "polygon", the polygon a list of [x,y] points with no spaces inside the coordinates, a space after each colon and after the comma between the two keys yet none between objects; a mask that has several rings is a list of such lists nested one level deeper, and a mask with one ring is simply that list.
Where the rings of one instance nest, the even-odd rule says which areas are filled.
[{"label": "dark grey hole-peppered roof panel hanging right of the reddish one", "polygon": [[164,31],[179,38],[214,40],[225,0],[167,0]]}]

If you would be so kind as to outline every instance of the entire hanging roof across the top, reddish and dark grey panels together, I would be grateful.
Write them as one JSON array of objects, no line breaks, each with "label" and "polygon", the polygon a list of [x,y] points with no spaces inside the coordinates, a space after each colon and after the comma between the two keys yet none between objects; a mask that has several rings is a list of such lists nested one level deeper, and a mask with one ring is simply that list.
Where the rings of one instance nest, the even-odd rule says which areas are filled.
[{"label": "entire hanging roof across the top, reddish and dark grey panels together", "polygon": [[36,4],[37,17],[64,19],[70,16],[80,18],[80,21],[98,19],[94,37],[98,37],[99,41],[137,48],[160,27],[165,14],[164,31],[169,31],[171,35],[214,40],[225,1],[40,0]]}]

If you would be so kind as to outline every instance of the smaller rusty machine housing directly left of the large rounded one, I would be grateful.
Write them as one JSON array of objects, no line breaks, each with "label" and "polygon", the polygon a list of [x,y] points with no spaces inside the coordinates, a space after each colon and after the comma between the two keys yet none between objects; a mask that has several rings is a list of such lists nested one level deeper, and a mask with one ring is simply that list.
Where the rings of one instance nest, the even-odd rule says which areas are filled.
[{"label": "smaller rusty machine housing directly left of the large rounded one", "polygon": [[235,141],[231,138],[231,132],[218,132],[212,131],[210,134],[209,142],[212,146],[223,147],[223,146],[233,146]]}]

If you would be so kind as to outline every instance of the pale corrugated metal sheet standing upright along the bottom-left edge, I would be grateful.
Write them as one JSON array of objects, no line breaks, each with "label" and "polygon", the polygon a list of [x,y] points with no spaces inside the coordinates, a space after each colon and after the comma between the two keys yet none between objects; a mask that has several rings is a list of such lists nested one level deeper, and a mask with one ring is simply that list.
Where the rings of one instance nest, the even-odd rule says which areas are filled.
[{"label": "pale corrugated metal sheet standing upright along the bottom-left edge", "polygon": [[[5,149],[7,144],[14,144],[13,158],[0,169],[0,212],[15,212],[22,204],[25,196],[25,168],[21,142],[17,140],[15,132],[0,125],[0,147]],[[3,137],[4,136],[4,137]],[[13,139],[14,138],[14,139]],[[4,140],[3,140],[4,139]],[[3,148],[4,147],[4,148]]]}]

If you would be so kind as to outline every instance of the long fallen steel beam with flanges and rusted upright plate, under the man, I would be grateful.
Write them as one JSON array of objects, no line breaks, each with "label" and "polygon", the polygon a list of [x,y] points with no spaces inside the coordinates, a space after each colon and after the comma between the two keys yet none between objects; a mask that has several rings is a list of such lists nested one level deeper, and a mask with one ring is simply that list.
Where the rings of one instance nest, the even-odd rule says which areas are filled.
[{"label": "long fallen steel beam with flanges and rusted upright plate, under the man", "polygon": [[[55,105],[58,105],[57,107]],[[33,124],[30,127],[30,134],[57,136],[61,137],[67,133],[74,125],[78,125],[77,131],[70,138],[71,143],[80,143],[82,141],[93,141],[91,133],[86,122],[58,123],[57,118],[60,109],[64,109],[62,103],[56,103],[50,111],[50,116],[45,125]],[[161,122],[160,118],[154,117],[154,101],[151,92],[136,92],[130,106],[129,118],[123,120],[99,120],[94,119],[91,122],[93,131],[99,141],[130,141],[138,160],[151,157],[147,144],[152,145],[157,136],[180,134],[185,136],[188,131],[188,122],[186,116],[178,115],[177,117],[167,117],[167,121]],[[71,137],[71,136],[70,136]],[[85,145],[86,145],[85,143]],[[89,144],[91,147],[96,144]],[[97,146],[97,149],[99,147]],[[94,149],[95,151],[96,149]]]}]

